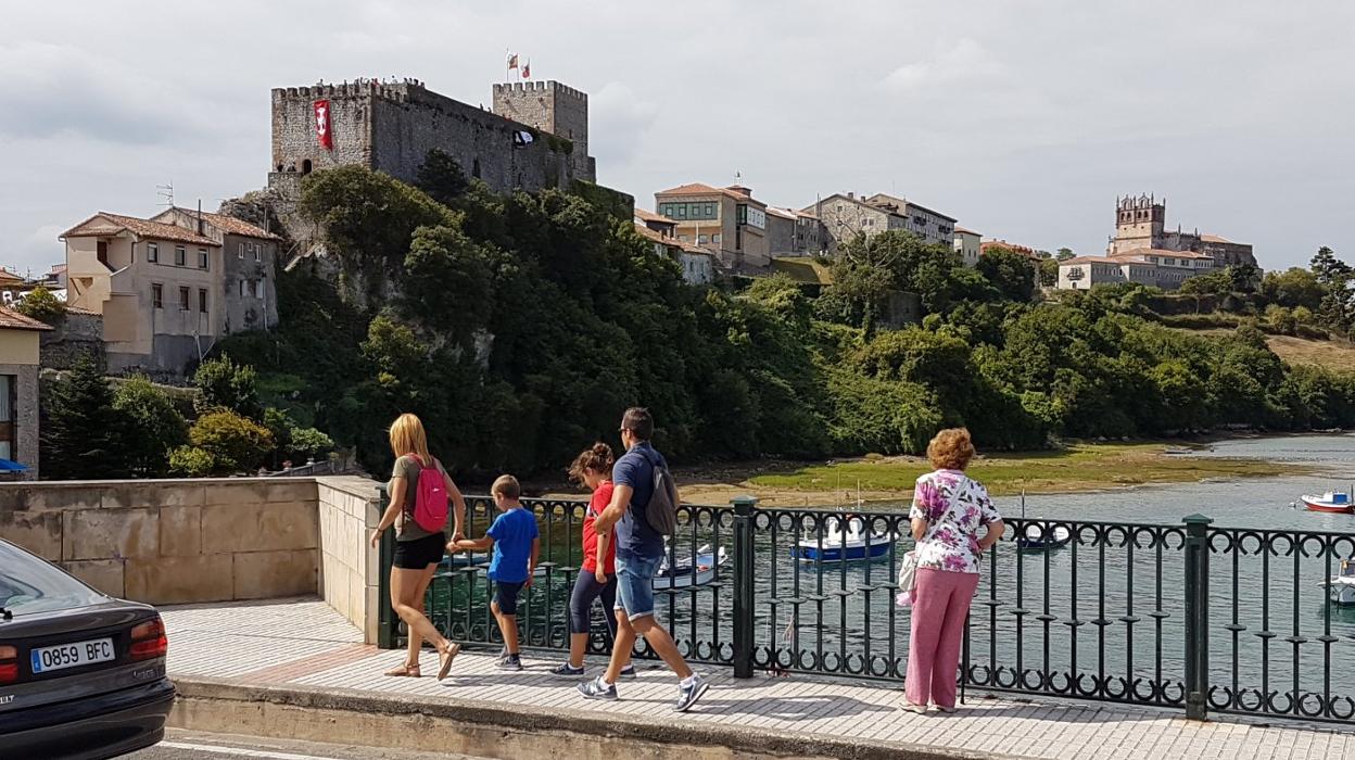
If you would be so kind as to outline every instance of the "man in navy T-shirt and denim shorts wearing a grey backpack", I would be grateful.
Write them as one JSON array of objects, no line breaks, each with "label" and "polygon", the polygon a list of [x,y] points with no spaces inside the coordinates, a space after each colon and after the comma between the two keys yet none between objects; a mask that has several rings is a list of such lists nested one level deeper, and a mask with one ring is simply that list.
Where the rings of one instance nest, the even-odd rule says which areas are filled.
[{"label": "man in navy T-shirt and denim shorts wearing a grey backpack", "polygon": [[706,694],[710,684],[687,667],[668,631],[654,620],[654,573],[664,560],[664,536],[676,527],[678,489],[668,462],[654,451],[650,439],[654,419],[649,409],[626,409],[621,420],[621,443],[626,454],[612,466],[611,504],[593,523],[599,534],[615,526],[617,542],[617,641],[607,672],[579,684],[588,699],[617,699],[617,679],[626,664],[625,653],[645,642],[680,679],[678,703],[686,713]]}]

